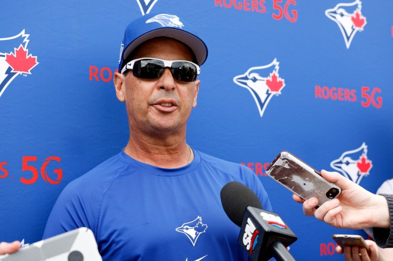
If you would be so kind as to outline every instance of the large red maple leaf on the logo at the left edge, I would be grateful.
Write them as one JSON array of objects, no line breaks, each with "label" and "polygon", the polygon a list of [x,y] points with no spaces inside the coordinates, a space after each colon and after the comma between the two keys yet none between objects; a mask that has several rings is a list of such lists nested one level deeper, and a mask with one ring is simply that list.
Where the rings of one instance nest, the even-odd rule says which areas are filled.
[{"label": "large red maple leaf on the logo at the left edge", "polygon": [[38,64],[37,57],[31,54],[27,56],[27,49],[24,49],[22,45],[18,49],[14,48],[14,51],[15,54],[12,52],[5,54],[5,61],[12,68],[12,72],[31,74],[30,70]]}]

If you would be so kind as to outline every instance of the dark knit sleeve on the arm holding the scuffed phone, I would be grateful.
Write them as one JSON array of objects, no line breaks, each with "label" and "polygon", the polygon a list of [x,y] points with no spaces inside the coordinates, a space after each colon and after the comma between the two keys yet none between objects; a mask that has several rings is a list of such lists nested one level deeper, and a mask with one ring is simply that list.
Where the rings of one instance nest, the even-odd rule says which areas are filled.
[{"label": "dark knit sleeve on the arm holding the scuffed phone", "polygon": [[391,219],[390,228],[373,228],[374,239],[381,248],[393,247],[393,195],[381,194],[388,201],[389,215]]}]

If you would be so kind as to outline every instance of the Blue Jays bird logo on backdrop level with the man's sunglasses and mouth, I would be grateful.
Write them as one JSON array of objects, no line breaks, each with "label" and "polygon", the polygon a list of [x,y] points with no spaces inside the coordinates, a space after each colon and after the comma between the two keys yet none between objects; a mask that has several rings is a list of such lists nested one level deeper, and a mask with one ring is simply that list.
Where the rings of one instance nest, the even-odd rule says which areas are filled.
[{"label": "Blue Jays bird logo on backdrop level with the man's sunglasses and mouth", "polygon": [[278,74],[278,65],[279,62],[274,59],[268,65],[251,67],[245,74],[233,78],[235,84],[251,92],[261,117],[273,95],[281,94],[285,87],[284,79]]}]

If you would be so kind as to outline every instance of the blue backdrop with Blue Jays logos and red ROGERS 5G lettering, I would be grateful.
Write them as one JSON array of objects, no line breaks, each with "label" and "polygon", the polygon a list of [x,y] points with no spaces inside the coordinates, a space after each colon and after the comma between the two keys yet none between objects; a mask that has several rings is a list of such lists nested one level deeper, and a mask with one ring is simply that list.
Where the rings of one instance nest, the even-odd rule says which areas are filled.
[{"label": "blue backdrop with Blue Jays logos and red ROGERS 5G lettering", "polygon": [[126,145],[126,110],[112,77],[126,25],[150,11],[187,16],[208,46],[188,143],[259,176],[298,236],[295,259],[343,259],[332,234],[367,237],[305,217],[265,168],[287,150],[372,192],[392,178],[392,1],[0,6],[0,241],[39,241],[64,186]]}]

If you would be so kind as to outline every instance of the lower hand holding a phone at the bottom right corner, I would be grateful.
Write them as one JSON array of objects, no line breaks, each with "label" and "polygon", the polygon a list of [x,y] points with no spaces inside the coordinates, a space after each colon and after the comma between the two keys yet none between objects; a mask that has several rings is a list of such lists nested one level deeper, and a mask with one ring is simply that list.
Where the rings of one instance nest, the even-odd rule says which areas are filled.
[{"label": "lower hand holding a phone at the bottom right corner", "polygon": [[346,261],[389,261],[388,258],[392,257],[393,249],[382,249],[371,240],[366,240],[366,243],[370,247],[369,253],[365,248],[359,248],[357,246],[345,247],[344,249],[338,246],[336,252],[338,254],[344,254]]}]

